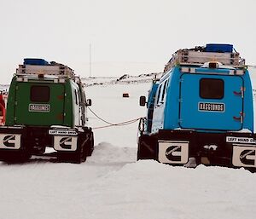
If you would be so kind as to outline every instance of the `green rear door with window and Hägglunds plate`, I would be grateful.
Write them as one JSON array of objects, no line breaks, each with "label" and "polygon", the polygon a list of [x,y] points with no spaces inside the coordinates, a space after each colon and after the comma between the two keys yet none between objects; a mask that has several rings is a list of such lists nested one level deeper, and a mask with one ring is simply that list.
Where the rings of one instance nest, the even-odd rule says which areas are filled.
[{"label": "green rear door with window and H\u00e4gglunds plate", "polygon": [[64,84],[19,83],[16,86],[15,123],[61,125],[64,119]]}]

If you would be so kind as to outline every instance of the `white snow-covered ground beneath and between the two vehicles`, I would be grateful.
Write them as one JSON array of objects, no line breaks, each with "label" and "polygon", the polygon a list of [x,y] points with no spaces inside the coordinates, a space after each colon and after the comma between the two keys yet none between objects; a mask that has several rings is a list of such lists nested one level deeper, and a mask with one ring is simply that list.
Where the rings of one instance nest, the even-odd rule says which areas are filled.
[{"label": "white snow-covered ground beneath and between the two vehicles", "polygon": [[[150,83],[96,78],[86,87],[90,110],[113,124],[145,115],[138,106]],[[97,85],[92,85],[97,83]],[[129,98],[122,94],[128,93]],[[136,161],[137,123],[106,124],[89,112],[95,151],[83,164],[32,159],[0,163],[0,218],[253,219],[256,174],[247,170],[172,167]]]}]

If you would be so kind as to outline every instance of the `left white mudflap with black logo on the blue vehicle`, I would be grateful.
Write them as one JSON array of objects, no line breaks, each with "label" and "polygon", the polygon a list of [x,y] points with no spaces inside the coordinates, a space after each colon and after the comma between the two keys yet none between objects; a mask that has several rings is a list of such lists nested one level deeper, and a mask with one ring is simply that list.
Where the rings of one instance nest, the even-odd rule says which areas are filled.
[{"label": "left white mudflap with black logo on the blue vehicle", "polygon": [[159,141],[158,160],[166,164],[186,164],[189,160],[189,141]]}]

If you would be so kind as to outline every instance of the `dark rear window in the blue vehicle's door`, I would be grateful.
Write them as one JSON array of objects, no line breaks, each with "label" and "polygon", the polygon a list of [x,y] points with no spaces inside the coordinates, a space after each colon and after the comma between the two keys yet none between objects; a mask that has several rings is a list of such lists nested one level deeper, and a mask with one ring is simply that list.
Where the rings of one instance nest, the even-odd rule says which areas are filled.
[{"label": "dark rear window in the blue vehicle's door", "polygon": [[222,99],[224,97],[224,81],[215,78],[201,78],[200,97],[203,99]]}]

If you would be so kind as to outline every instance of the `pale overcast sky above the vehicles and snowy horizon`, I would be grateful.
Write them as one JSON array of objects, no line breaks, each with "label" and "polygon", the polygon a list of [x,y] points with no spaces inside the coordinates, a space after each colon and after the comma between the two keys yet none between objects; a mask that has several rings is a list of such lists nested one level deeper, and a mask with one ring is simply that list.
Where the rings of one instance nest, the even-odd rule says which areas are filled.
[{"label": "pale overcast sky above the vehicles and snowy horizon", "polygon": [[181,48],[233,43],[256,64],[255,0],[0,0],[0,66],[9,83],[23,58],[89,76],[161,72]]}]

